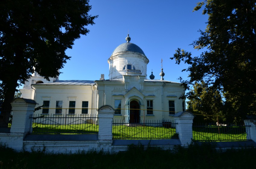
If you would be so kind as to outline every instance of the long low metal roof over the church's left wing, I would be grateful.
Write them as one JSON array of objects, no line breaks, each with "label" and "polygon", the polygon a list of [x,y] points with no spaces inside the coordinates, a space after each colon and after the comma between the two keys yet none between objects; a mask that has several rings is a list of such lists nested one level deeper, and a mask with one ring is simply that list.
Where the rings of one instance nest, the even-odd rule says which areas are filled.
[{"label": "long low metal roof over the church's left wing", "polygon": [[39,83],[33,85],[94,85],[93,80],[57,80],[52,83]]}]

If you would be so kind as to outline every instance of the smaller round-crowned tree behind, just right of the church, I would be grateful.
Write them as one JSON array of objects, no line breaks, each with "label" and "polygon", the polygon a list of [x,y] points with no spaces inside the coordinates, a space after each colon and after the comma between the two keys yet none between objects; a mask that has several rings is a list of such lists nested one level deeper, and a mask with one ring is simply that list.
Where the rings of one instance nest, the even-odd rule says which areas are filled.
[{"label": "smaller round-crowned tree behind, just right of the church", "polygon": [[217,122],[220,119],[217,119],[217,116],[222,116],[223,100],[220,92],[209,87],[204,81],[195,83],[193,90],[189,91],[188,99],[187,110],[197,115],[195,119]]}]

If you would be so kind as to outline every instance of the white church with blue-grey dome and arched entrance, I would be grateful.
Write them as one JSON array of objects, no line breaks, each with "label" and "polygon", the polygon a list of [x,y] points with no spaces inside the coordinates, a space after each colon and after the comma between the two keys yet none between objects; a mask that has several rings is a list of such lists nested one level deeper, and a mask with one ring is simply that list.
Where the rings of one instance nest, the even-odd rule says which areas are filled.
[{"label": "white church with blue-grey dome and arched entrance", "polygon": [[117,46],[108,59],[108,80],[101,75],[100,80],[47,81],[35,72],[20,89],[22,97],[43,105],[37,114],[83,117],[97,114],[102,105],[111,105],[116,120],[172,120],[175,113],[186,109],[185,100],[179,99],[184,87],[164,80],[163,69],[161,79],[155,79],[153,73],[147,79],[149,60],[130,40],[128,34],[126,43]]}]

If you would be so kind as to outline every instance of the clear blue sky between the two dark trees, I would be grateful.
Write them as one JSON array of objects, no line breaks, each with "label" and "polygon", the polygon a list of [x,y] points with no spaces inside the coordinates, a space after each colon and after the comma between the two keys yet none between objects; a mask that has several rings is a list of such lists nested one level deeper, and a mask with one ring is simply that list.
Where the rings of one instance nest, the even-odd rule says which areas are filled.
[{"label": "clear blue sky between the two dark trees", "polygon": [[147,79],[151,70],[155,79],[160,79],[161,58],[163,59],[164,80],[179,82],[188,79],[186,64],[175,64],[170,60],[177,48],[198,55],[189,45],[204,30],[208,16],[202,10],[192,12],[199,0],[91,0],[91,15],[98,15],[95,25],[88,26],[86,36],[75,41],[71,56],[60,71],[60,80],[99,80],[101,74],[108,78],[108,58],[114,49],[125,43],[128,30],[131,43],[138,45],[149,59]]}]

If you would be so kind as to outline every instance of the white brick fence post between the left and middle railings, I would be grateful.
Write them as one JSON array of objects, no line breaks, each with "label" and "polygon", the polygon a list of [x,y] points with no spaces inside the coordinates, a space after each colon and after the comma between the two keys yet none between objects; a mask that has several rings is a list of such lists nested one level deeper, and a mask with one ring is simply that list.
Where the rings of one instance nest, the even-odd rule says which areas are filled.
[{"label": "white brick fence post between the left and middle railings", "polygon": [[109,151],[111,148],[114,112],[110,105],[103,105],[98,109],[98,150]]}]

